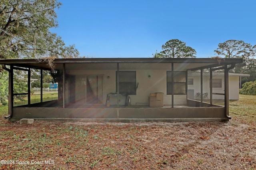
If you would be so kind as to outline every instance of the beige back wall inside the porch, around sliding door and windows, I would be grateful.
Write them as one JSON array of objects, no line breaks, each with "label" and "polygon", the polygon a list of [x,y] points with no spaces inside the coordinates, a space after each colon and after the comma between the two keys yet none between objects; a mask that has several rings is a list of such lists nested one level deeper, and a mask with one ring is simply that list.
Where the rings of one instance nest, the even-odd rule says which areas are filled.
[{"label": "beige back wall inside the porch, around sliding door and windows", "polygon": [[[125,71],[125,70],[120,70]],[[132,71],[132,70],[129,70]],[[132,105],[147,105],[150,93],[163,92],[164,105],[172,104],[172,95],[166,95],[166,71],[170,70],[136,70],[136,83],[138,88],[136,95],[130,95]],[[67,74],[82,75],[103,75],[103,104],[106,102],[108,93],[116,92],[116,70],[68,70]],[[148,76],[151,78],[148,78]],[[107,77],[110,76],[108,79]],[[66,101],[68,101],[68,87],[66,86]],[[175,105],[185,105],[186,95],[175,95]]]}]

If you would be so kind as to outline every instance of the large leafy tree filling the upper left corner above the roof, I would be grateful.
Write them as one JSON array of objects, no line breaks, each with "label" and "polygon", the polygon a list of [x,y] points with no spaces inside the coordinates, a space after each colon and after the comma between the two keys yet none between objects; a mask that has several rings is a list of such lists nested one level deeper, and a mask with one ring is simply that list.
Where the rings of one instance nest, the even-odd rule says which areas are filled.
[{"label": "large leafy tree filling the upper left corner above the roof", "polygon": [[0,1],[0,59],[78,57],[74,45],[65,46],[49,31],[57,27],[56,0]]}]

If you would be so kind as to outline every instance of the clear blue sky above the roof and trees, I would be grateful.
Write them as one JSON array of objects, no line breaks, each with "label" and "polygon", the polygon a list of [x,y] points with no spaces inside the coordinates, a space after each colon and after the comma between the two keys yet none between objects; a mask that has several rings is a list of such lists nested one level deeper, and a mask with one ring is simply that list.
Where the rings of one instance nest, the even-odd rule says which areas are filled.
[{"label": "clear blue sky above the roof and trees", "polygon": [[219,43],[256,45],[255,0],[59,0],[51,29],[81,56],[152,57],[170,39],[214,56]]}]

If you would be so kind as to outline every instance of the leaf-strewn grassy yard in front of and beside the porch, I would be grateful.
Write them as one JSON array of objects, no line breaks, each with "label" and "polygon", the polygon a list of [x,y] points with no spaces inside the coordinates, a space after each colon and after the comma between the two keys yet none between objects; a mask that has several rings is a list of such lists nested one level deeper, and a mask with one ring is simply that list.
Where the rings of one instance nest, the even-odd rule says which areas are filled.
[{"label": "leaf-strewn grassy yard in front of and beside the porch", "polygon": [[20,125],[7,110],[0,169],[256,169],[256,96],[230,101],[229,122]]}]

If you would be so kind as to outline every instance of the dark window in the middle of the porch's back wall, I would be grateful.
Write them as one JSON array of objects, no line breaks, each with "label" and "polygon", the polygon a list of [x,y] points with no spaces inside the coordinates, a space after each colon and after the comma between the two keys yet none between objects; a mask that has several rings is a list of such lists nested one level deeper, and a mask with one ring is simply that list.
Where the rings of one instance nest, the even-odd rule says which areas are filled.
[{"label": "dark window in the middle of the porch's back wall", "polygon": [[[119,93],[136,95],[136,71],[119,71]],[[117,92],[117,72],[116,72],[116,92]]]}]

